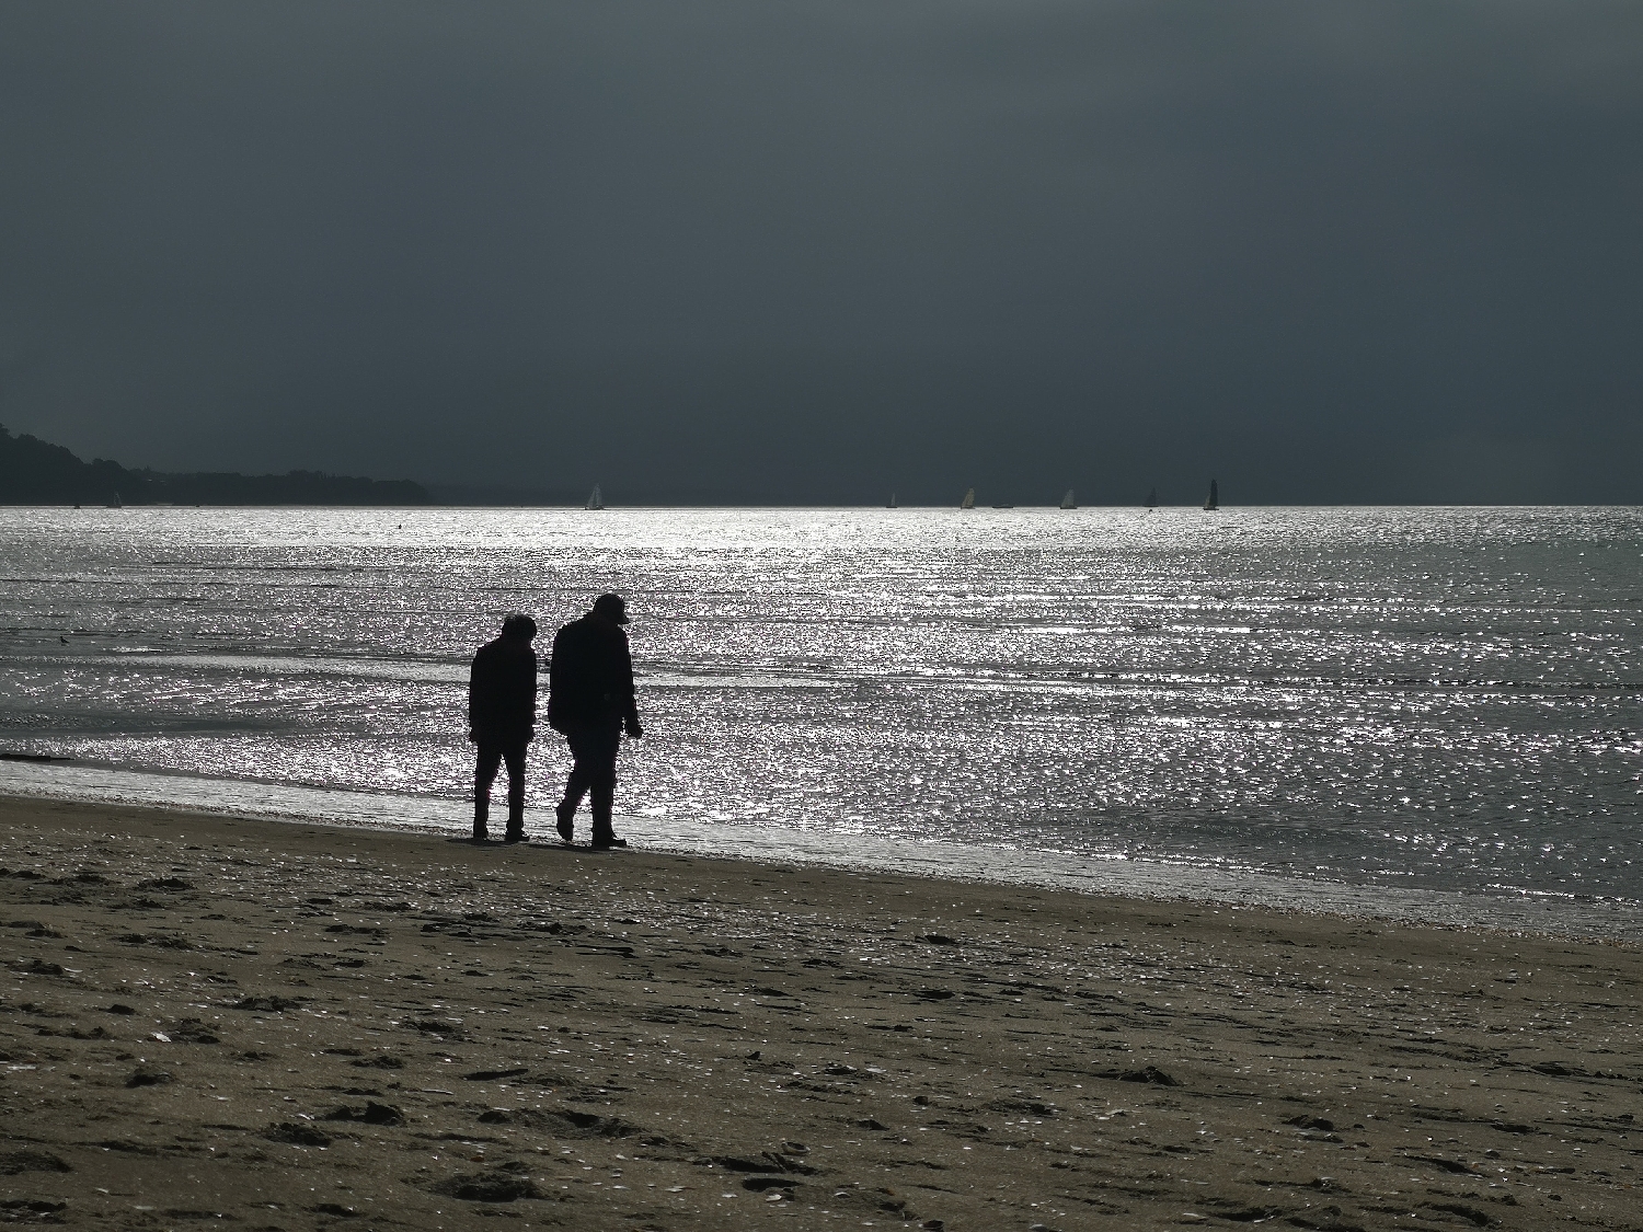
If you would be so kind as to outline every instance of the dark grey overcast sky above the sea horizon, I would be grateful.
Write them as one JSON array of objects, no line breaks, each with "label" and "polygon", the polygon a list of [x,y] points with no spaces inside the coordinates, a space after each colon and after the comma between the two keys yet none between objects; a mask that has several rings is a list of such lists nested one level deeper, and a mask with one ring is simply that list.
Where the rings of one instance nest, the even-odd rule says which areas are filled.
[{"label": "dark grey overcast sky above the sea horizon", "polygon": [[0,108],[87,457],[1643,503],[1636,0],[13,0]]}]

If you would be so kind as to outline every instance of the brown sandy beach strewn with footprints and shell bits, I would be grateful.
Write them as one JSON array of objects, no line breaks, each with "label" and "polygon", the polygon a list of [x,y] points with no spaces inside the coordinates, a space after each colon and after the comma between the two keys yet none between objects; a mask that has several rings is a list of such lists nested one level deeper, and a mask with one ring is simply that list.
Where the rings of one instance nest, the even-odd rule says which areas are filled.
[{"label": "brown sandy beach strewn with footprints and shell bits", "polygon": [[0,800],[0,1222],[1643,1227],[1635,943]]}]

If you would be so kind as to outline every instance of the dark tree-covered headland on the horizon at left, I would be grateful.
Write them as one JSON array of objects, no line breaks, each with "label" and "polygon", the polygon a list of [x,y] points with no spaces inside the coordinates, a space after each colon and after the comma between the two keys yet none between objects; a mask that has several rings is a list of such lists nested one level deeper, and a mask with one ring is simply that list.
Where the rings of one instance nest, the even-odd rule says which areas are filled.
[{"label": "dark tree-covered headland on the horizon at left", "polygon": [[118,462],[84,462],[62,445],[0,425],[0,504],[432,504],[412,480],[286,475],[168,475]]}]

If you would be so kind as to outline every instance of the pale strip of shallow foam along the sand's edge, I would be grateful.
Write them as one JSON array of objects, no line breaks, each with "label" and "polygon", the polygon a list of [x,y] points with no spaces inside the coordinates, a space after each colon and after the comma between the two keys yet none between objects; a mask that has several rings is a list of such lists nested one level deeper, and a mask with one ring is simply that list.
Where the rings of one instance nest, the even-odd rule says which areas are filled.
[{"label": "pale strip of shallow foam along the sand's edge", "polygon": [[[462,807],[450,800],[84,765],[0,762],[0,793],[447,834],[463,833],[468,826]],[[1643,938],[1643,910],[1627,903],[1349,885],[1132,859],[1098,861],[1004,846],[822,834],[713,821],[682,825],[629,818],[626,831],[647,849],[695,856],[823,864],[953,880],[1280,907],[1558,936]]]}]

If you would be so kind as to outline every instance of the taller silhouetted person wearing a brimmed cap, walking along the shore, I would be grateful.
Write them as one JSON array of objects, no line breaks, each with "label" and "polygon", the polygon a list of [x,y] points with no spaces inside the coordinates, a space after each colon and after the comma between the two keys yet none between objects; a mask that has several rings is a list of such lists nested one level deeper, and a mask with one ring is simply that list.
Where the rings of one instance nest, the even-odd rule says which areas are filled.
[{"label": "taller silhouetted person wearing a brimmed cap, walking along the shore", "polygon": [[559,836],[570,841],[582,797],[590,795],[593,846],[624,848],[611,830],[616,797],[616,749],[623,729],[639,738],[639,706],[633,695],[633,655],[628,650],[628,605],[619,595],[600,595],[593,611],[554,634],[547,669],[547,724],[570,744],[575,762],[559,808]]}]

